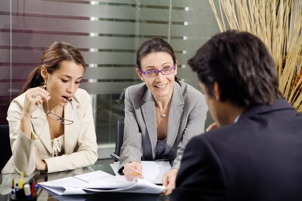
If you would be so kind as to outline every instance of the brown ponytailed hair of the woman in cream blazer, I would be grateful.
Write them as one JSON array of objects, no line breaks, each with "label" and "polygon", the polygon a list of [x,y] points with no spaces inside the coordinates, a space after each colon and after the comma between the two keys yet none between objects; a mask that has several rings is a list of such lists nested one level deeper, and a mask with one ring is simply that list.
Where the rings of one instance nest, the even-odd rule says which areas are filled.
[{"label": "brown ponytailed hair of the woman in cream blazer", "polygon": [[45,66],[47,72],[52,74],[60,67],[62,61],[73,61],[78,65],[82,65],[84,70],[86,68],[84,58],[77,48],[65,42],[54,42],[43,53],[41,63],[30,73],[21,94],[29,88],[44,84],[44,79],[41,75],[42,66]]}]

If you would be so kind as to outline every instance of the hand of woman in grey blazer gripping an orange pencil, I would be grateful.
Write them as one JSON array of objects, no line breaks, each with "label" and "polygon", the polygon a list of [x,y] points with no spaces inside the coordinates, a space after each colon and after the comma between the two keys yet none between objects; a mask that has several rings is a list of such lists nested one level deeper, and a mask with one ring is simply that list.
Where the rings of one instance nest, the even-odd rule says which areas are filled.
[{"label": "hand of woman in grey blazer gripping an orange pencil", "polygon": [[127,181],[132,181],[134,178],[141,178],[142,176],[142,165],[137,161],[131,161],[124,165],[123,173]]}]

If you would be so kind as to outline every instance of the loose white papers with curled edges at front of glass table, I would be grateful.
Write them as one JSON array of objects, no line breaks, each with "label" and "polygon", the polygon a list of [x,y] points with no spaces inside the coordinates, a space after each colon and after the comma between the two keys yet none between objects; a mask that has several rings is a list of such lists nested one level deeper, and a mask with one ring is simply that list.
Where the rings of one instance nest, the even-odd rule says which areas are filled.
[{"label": "loose white papers with curled edges at front of glass table", "polygon": [[87,174],[71,176],[39,184],[58,194],[91,194],[95,192],[139,192],[161,193],[165,186],[156,185],[142,179],[134,181],[121,181],[117,177],[103,171],[95,171]]}]

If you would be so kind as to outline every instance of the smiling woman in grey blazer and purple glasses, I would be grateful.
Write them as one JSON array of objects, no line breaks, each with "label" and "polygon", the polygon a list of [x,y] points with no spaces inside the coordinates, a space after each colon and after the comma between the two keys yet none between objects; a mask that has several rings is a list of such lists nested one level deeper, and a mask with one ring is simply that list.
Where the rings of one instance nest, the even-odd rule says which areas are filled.
[{"label": "smiling woman in grey blazer and purple glasses", "polygon": [[136,53],[136,65],[143,83],[125,92],[119,168],[132,180],[143,178],[141,158],[173,160],[172,169],[163,177],[167,186],[163,194],[170,194],[188,141],[204,132],[208,108],[200,91],[177,79],[176,57],[165,40],[143,42]]}]

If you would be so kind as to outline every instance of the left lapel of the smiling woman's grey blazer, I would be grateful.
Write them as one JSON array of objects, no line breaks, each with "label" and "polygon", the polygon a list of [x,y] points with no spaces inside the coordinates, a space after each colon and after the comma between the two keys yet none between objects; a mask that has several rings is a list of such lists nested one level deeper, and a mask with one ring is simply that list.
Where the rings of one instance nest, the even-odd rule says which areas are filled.
[{"label": "left lapel of the smiling woman's grey blazer", "polygon": [[157,144],[157,127],[156,127],[156,115],[155,115],[155,102],[152,92],[146,90],[141,106],[142,116],[145,120],[145,125],[148,131],[152,147],[152,156],[156,156],[156,144]]}]

